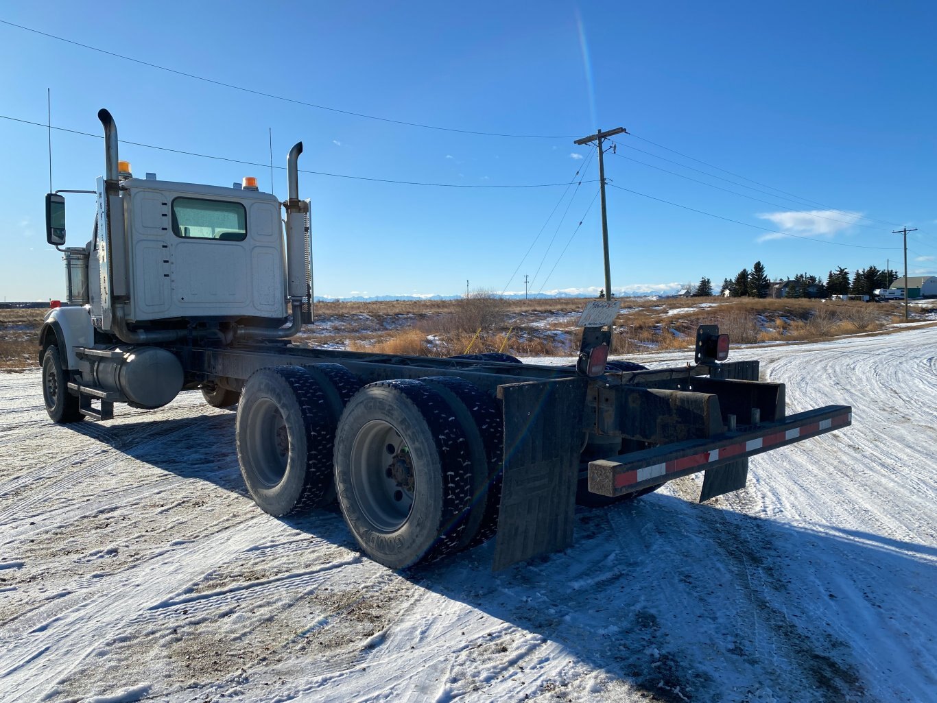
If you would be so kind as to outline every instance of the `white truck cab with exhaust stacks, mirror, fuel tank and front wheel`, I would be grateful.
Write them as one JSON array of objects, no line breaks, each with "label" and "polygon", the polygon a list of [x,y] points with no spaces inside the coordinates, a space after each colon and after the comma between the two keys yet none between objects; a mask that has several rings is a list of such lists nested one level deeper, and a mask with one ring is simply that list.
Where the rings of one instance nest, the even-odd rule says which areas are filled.
[{"label": "white truck cab with exhaust stacks, mirror, fuel tank and front wheel", "polygon": [[[282,339],[311,322],[309,203],[297,185],[302,142],[287,161],[290,198],[279,202],[250,177],[232,187],[135,178],[118,160],[111,113],[97,116],[105,175],[95,190],[46,196],[46,236],[65,254],[67,300],[46,316],[39,361],[60,420],[110,417],[113,402],[157,408],[184,387],[201,385],[209,399],[218,383],[184,370],[171,345]],[[83,247],[63,248],[70,192],[97,196]],[[218,402],[229,402],[221,391]]]}]

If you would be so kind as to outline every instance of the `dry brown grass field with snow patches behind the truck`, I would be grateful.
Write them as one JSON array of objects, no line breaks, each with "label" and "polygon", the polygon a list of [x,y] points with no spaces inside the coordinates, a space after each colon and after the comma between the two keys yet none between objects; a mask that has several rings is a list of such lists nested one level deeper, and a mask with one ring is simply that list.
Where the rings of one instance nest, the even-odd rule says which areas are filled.
[{"label": "dry brown grass field with snow patches behind the truck", "polygon": [[[569,355],[578,348],[579,312],[589,299],[501,300],[485,294],[448,301],[317,303],[316,322],[294,341],[310,347],[451,356],[508,352]],[[937,306],[937,303],[935,303]],[[38,365],[45,309],[0,310],[0,369]],[[756,299],[623,299],[613,353],[692,349],[696,326],[719,324],[733,344],[818,341],[885,330],[901,322],[898,303]],[[912,321],[932,308],[917,308]]]}]

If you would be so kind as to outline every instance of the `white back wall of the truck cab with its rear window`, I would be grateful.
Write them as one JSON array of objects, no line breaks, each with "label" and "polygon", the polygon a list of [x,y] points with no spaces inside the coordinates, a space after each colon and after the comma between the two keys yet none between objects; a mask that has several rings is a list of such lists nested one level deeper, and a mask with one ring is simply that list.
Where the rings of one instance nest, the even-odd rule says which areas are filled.
[{"label": "white back wall of the truck cab with its rear window", "polygon": [[286,254],[274,195],[256,185],[149,178],[126,178],[121,187],[127,322],[286,317]]}]

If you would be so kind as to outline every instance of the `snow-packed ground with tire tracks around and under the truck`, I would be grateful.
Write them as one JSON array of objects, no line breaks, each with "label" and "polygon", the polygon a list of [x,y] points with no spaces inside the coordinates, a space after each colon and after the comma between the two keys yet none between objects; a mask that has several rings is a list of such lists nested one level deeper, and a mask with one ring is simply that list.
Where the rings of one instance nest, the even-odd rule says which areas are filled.
[{"label": "snow-packed ground with tire tracks around and under the truck", "polygon": [[0,374],[3,701],[933,701],[937,329],[749,350],[854,426],[577,513],[575,546],[395,573],[341,516],[263,515],[234,413],[55,426]]}]

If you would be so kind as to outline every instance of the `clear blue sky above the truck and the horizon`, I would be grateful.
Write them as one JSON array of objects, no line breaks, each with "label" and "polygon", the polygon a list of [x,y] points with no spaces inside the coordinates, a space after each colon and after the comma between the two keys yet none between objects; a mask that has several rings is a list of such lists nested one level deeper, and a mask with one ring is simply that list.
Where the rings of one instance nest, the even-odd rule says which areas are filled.
[{"label": "clear blue sky above the truck and the horizon", "polygon": [[[261,164],[272,128],[276,166],[302,140],[300,167],[335,174],[535,185],[587,167],[563,198],[564,187],[301,174],[319,295],[454,294],[467,279],[523,291],[525,274],[532,291],[602,287],[596,160],[573,138],[619,126],[633,136],[606,155],[606,176],[636,192],[608,192],[613,288],[703,276],[718,285],[756,260],[772,278],[887,259],[900,269],[891,231],[904,224],[919,228],[910,272],[937,270],[930,3],[168,2],[110,16],[48,3],[6,4],[0,20],[340,110],[558,138],[324,111],[0,24],[6,117],[44,123],[50,88],[53,126],[99,134],[107,107],[122,140]],[[44,241],[47,139],[43,127],[0,119],[7,299],[64,293],[61,255]],[[93,187],[100,140],[53,131],[52,150],[53,187]],[[129,144],[121,157],[167,180],[270,184],[255,166]],[[285,191],[279,170],[275,193]],[[90,235],[91,200],[68,199],[70,246]]]}]

